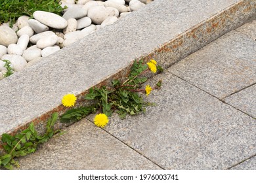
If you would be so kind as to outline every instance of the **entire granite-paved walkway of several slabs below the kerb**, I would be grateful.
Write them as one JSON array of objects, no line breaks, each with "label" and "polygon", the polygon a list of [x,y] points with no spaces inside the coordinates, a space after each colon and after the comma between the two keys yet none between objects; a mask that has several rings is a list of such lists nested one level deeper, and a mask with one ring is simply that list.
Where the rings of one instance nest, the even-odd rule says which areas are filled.
[{"label": "entire granite-paved walkway of several slabs below the kerb", "polygon": [[154,76],[146,114],[104,129],[93,115],[68,127],[20,169],[256,169],[256,22]]}]

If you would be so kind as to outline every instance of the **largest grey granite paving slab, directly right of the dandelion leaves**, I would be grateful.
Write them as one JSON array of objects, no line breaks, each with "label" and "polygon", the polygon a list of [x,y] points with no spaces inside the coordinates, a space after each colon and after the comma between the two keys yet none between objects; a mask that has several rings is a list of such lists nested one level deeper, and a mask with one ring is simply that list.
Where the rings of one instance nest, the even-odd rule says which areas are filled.
[{"label": "largest grey granite paving slab, directly right of the dandelion leaves", "polygon": [[[256,152],[256,120],[165,73],[146,114],[110,117],[105,130],[164,169],[228,169]],[[94,116],[89,116],[93,122]]]}]

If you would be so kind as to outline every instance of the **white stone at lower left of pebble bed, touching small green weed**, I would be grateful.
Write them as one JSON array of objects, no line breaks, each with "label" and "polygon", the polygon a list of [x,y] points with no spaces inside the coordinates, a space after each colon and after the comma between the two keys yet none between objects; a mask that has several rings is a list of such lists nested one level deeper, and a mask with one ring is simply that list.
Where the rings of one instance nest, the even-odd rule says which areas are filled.
[{"label": "white stone at lower left of pebble bed, touching small green weed", "polygon": [[18,55],[4,55],[1,58],[2,60],[7,59],[11,62],[11,67],[14,69],[14,71],[21,71],[27,64],[26,59],[24,59],[22,56]]}]

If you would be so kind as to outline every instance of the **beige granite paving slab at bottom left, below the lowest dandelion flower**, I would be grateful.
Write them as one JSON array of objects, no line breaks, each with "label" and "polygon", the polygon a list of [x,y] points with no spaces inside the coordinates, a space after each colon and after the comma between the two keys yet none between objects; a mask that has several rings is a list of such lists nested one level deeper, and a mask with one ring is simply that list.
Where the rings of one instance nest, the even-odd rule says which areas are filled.
[{"label": "beige granite paving slab at bottom left, below the lowest dandelion flower", "polygon": [[88,120],[66,131],[34,154],[19,158],[20,169],[160,169]]}]

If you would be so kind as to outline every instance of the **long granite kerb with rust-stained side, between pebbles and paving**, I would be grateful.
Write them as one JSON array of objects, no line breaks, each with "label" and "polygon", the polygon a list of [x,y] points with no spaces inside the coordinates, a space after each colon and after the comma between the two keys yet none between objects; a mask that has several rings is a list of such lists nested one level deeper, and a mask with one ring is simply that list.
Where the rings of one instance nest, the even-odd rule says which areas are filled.
[{"label": "long granite kerb with rust-stained side, between pebbles and paving", "polygon": [[[167,68],[255,12],[253,0],[158,0],[0,82],[0,135],[34,122],[43,130],[62,96],[80,99],[93,86],[123,78],[134,59]],[[62,124],[58,123],[58,127]]]}]

